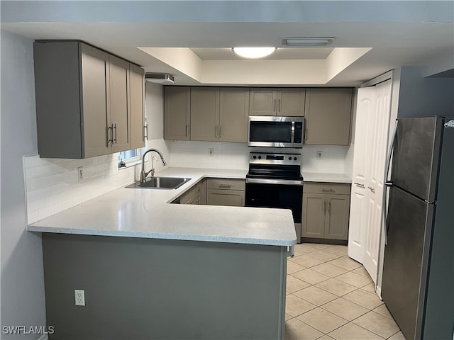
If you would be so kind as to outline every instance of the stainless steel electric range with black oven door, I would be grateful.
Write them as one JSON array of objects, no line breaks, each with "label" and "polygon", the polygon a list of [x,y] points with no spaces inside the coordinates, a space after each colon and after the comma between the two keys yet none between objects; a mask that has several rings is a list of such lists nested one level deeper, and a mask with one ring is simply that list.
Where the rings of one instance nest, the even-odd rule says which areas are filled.
[{"label": "stainless steel electric range with black oven door", "polygon": [[250,152],[245,206],[292,210],[297,242],[301,242],[303,177],[301,155]]}]

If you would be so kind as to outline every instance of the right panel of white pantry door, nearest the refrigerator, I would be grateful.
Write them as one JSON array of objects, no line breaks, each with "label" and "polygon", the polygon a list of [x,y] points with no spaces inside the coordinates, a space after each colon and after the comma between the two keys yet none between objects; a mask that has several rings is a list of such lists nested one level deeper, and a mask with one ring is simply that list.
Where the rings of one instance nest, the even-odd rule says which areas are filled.
[{"label": "right panel of white pantry door, nearest the refrigerator", "polygon": [[[365,255],[363,265],[374,283],[377,283],[380,232],[382,229],[382,202],[384,194],[384,171],[386,163],[391,81],[375,86],[375,111],[368,130],[366,154],[369,169],[365,179],[367,197],[367,227],[365,232]],[[372,121],[373,120],[373,121]]]}]

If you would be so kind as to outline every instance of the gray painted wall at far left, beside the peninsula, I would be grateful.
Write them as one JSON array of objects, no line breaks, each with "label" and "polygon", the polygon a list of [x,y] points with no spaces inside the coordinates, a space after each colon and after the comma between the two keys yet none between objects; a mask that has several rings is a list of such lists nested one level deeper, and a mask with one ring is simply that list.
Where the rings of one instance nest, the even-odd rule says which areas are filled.
[{"label": "gray painted wall at far left, beside the peninsula", "polygon": [[[33,40],[1,30],[1,326],[45,325],[41,237],[26,231],[22,156],[38,152]],[[38,339],[36,335],[1,339]]]}]

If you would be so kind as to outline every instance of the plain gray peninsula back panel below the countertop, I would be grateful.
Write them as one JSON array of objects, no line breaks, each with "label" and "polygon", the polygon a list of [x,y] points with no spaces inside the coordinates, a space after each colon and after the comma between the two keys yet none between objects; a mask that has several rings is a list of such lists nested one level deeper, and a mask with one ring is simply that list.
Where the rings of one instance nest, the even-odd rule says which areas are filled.
[{"label": "plain gray peninsula back panel below the countertop", "polygon": [[287,246],[43,233],[43,267],[50,340],[284,339]]}]

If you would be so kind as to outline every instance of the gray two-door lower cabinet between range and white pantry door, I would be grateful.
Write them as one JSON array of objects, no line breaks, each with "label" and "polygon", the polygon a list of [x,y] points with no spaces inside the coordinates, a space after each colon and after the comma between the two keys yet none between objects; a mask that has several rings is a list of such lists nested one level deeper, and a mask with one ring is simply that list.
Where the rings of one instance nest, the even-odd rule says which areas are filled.
[{"label": "gray two-door lower cabinet between range and white pantry door", "polygon": [[304,183],[301,237],[347,240],[349,213],[350,184]]}]

